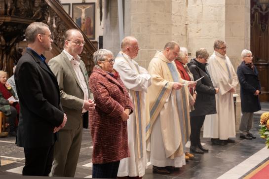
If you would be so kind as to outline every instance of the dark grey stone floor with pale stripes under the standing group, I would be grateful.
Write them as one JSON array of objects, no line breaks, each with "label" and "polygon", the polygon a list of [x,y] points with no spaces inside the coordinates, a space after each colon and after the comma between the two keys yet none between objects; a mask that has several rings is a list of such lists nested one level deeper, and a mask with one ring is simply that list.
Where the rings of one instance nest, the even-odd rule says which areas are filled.
[{"label": "dark grey stone floor with pale stripes under the standing group", "polygon": [[[269,111],[269,105],[263,104],[263,111]],[[147,169],[143,179],[238,179],[243,178],[263,161],[269,159],[269,149],[265,147],[265,140],[259,137],[259,117],[255,115],[252,134],[254,140],[239,139],[236,135],[235,143],[225,146],[212,145],[210,139],[201,138],[204,146],[209,148],[205,154],[196,154],[180,171],[169,175],[153,174]],[[201,135],[202,136],[202,135]],[[187,148],[189,149],[189,148]],[[77,164],[77,178],[91,178],[92,173],[92,142],[89,130],[83,130],[83,139]],[[0,175],[21,175],[24,166],[23,148],[15,145],[15,137],[0,138],[1,164]],[[151,166],[149,166],[151,168]],[[1,178],[1,177],[0,177]]]}]

